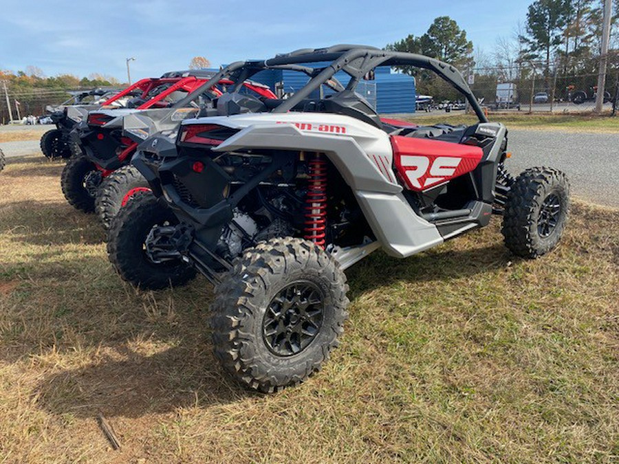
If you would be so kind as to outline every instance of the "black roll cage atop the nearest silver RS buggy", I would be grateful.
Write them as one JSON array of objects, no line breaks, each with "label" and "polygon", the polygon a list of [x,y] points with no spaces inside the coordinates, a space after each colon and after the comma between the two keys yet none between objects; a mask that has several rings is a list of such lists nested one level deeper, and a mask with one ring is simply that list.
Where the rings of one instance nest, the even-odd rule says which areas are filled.
[{"label": "black roll cage atop the nearest silver RS buggy", "polygon": [[[318,63],[321,61],[330,61],[331,63],[322,69],[301,65],[301,63]],[[298,49],[294,52],[276,55],[274,58],[263,61],[237,61],[221,69],[213,78],[205,82],[202,87],[199,87],[196,93],[200,94],[207,91],[223,78],[229,78],[235,82],[235,85],[229,90],[230,92],[235,92],[245,80],[264,69],[301,71],[310,76],[310,81],[272,110],[272,113],[286,113],[323,84],[336,91],[354,91],[358,82],[378,66],[415,66],[435,72],[466,97],[468,104],[475,111],[475,115],[477,115],[480,122],[488,122],[488,118],[486,118],[486,114],[479,106],[473,91],[468,87],[462,74],[452,65],[429,56],[390,52],[366,45],[334,45],[327,48]],[[345,71],[351,76],[345,88],[334,78],[338,71]],[[173,107],[184,107],[194,98],[193,96],[186,96],[173,105]]]}]

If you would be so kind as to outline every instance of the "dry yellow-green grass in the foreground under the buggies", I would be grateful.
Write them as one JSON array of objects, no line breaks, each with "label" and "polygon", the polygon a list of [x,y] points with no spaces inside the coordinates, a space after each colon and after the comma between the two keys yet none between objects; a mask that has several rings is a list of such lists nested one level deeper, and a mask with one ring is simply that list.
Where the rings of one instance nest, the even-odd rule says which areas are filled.
[{"label": "dry yellow-green grass in the foreground under the buggies", "polygon": [[206,280],[124,285],[61,168],[0,173],[0,462],[619,459],[618,210],[575,203],[537,261],[510,256],[499,221],[404,261],[373,254],[347,273],[330,362],[265,396],[215,362]]}]

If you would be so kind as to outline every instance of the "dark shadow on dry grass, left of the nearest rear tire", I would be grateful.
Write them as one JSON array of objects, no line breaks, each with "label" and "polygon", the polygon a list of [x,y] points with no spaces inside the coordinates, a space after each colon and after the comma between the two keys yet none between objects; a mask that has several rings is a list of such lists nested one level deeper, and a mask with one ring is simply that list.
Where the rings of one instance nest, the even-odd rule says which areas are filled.
[{"label": "dark shadow on dry grass, left of the nearest rear tire", "polygon": [[127,350],[127,359],[47,377],[36,388],[39,406],[54,415],[137,418],[177,408],[226,404],[248,396],[222,375],[204,340],[174,346],[153,355]]}]

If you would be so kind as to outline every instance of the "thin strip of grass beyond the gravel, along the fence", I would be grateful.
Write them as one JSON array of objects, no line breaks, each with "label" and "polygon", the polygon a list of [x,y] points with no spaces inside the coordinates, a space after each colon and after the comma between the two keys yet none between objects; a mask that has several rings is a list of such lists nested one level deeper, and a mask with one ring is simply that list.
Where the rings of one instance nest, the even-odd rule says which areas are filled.
[{"label": "thin strip of grass beyond the gravel, along the fence", "polygon": [[[462,111],[417,113],[407,119],[424,124],[434,124],[439,120],[446,120],[450,124],[474,124],[477,122],[474,115],[465,115]],[[520,113],[490,113],[488,119],[493,122],[503,122],[508,126],[508,129],[569,129],[570,132],[619,133],[619,118],[606,115],[527,114],[522,111]]]}]

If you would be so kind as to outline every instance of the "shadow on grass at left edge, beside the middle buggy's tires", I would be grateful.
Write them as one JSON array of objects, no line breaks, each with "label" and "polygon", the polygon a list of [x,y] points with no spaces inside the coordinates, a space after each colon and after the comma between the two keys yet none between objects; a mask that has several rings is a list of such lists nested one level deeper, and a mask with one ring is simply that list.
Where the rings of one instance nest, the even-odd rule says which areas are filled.
[{"label": "shadow on grass at left edge, beside the middle buggy's tires", "polygon": [[105,231],[95,214],[78,211],[62,201],[23,200],[0,206],[0,234],[30,245],[95,245]]}]

